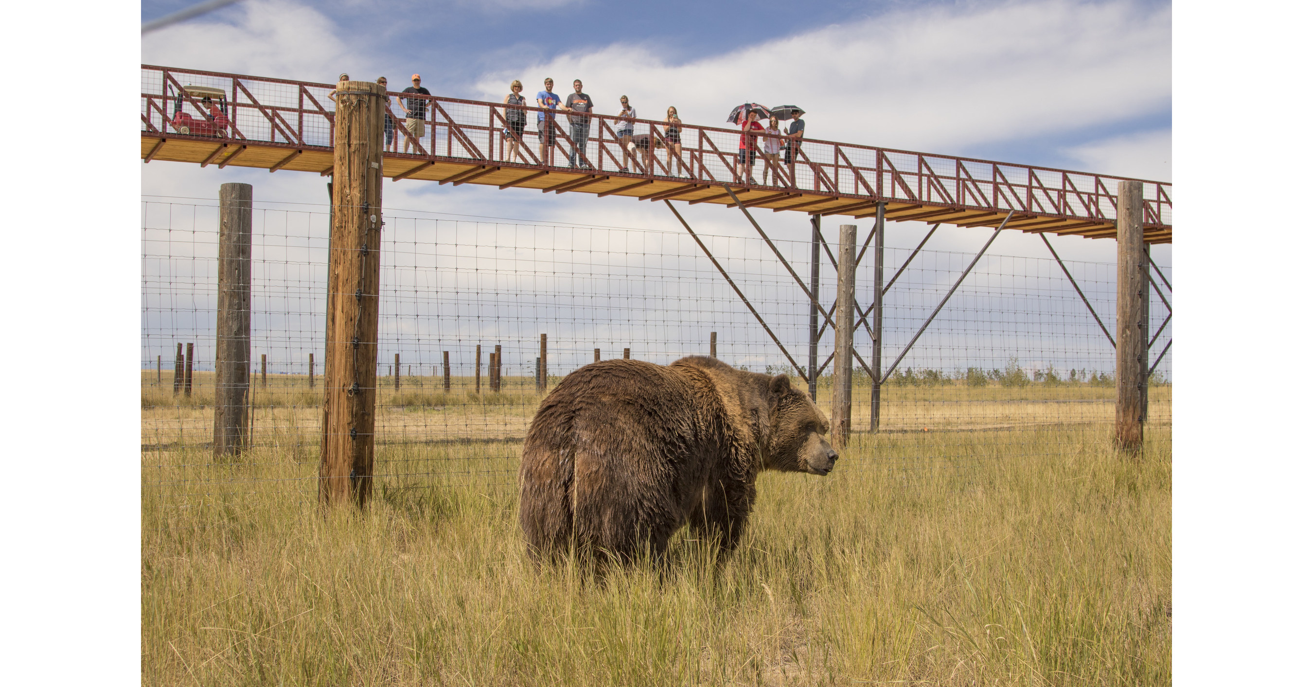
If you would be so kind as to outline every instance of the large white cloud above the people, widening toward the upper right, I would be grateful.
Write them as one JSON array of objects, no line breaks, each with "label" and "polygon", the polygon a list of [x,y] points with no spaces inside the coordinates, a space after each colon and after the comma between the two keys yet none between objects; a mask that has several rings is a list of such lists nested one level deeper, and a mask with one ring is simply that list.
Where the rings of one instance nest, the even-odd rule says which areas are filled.
[{"label": "large white cloud above the people, widening toward the upper right", "polygon": [[500,100],[512,79],[533,91],[578,78],[604,112],[625,93],[646,118],[674,104],[699,123],[744,100],[797,104],[813,138],[951,151],[1162,110],[1170,38],[1169,8],[1127,1],[918,8],[685,64],[614,43],[498,70],[477,91]]}]

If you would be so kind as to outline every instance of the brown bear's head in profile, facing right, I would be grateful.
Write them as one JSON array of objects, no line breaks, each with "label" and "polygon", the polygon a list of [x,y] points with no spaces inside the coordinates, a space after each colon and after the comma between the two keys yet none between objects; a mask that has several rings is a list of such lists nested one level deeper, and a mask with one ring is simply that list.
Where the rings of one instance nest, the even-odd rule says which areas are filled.
[{"label": "brown bear's head in profile, facing right", "polygon": [[771,428],[764,464],[768,469],[830,474],[839,453],[825,435],[830,420],[805,391],[794,389],[786,374],[771,378],[767,388]]}]

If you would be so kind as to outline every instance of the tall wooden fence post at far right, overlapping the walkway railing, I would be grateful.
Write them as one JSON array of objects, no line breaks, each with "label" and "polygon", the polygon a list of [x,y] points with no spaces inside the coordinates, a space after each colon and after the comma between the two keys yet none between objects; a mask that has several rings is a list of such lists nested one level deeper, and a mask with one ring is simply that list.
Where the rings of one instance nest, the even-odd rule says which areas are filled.
[{"label": "tall wooden fence post at far right, overlapping the walkway railing", "polygon": [[1144,264],[1144,183],[1117,183],[1116,443],[1138,449],[1149,407],[1149,285]]}]

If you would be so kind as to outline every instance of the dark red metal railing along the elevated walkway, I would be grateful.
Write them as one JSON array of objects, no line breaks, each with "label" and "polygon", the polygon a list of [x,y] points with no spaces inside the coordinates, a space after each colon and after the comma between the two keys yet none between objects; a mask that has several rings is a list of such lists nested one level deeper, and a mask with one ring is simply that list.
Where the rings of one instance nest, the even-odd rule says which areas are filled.
[{"label": "dark red metal railing along the elevated walkway", "polygon": [[[225,92],[223,108],[226,123],[214,117],[211,99],[206,104],[196,97],[179,93],[185,85],[206,85]],[[179,133],[180,117],[185,113],[193,121],[206,120],[221,122],[201,127],[201,133],[190,131],[188,138],[209,138],[238,143],[260,143],[288,148],[332,147],[334,101],[330,93],[332,84],[293,81],[286,79],[265,79],[235,74],[177,70],[171,67],[142,66],[142,133],[184,135]],[[478,169],[457,175],[444,181],[466,183],[477,176],[508,167],[521,167],[528,180],[532,171],[546,172],[566,164],[571,152],[579,154],[586,167],[605,173],[611,179],[621,179],[618,172],[625,159],[618,117],[588,114],[587,142],[584,150],[571,139],[571,125],[565,112],[546,113],[540,108],[521,108],[528,120],[520,146],[521,158],[506,159],[513,133],[507,118],[507,105],[500,102],[481,102],[440,96],[420,96],[428,101],[424,120],[424,134],[412,137],[402,125],[403,110],[397,106],[402,93],[389,92],[389,108],[395,117],[395,148],[385,155],[415,160],[408,172],[394,175],[403,179],[408,173],[428,167],[431,162],[475,163]],[[515,108],[512,108],[515,109]],[[548,151],[549,162],[544,164],[540,151],[540,133],[536,120],[540,113],[551,114],[549,127],[555,133],[554,144]],[[735,162],[741,131],[699,126],[681,122],[679,127],[680,150],[675,155],[674,146],[667,143],[667,122],[655,120],[633,120],[633,137],[638,164],[630,164],[628,176],[634,184],[614,188],[607,193],[641,188],[651,180],[668,181],[672,177],[684,179],[687,184],[662,193],[641,196],[642,198],[672,198],[679,194],[704,190],[722,184],[743,185],[744,180],[735,176]],[[874,214],[876,201],[923,205],[924,213],[903,214],[901,219],[934,219],[936,214],[979,210],[982,223],[997,223],[990,219],[995,213],[1015,210],[1022,215],[1052,217],[1106,225],[1116,218],[1117,181],[1129,177],[1074,172],[1048,167],[1007,164],[952,155],[931,155],[903,150],[859,146],[832,141],[805,139],[796,147],[793,166],[783,164],[781,155],[769,158],[763,143],[771,134],[756,138],[755,148],[758,181],[765,179],[767,168],[788,180],[784,185],[755,184],[758,190],[775,190],[769,197],[754,198],[751,205],[777,204],[776,209],[805,210],[809,205],[832,202],[834,198],[851,200],[851,204],[835,206],[826,214]],[[410,144],[411,152],[406,152]],[[418,152],[416,152],[418,150]],[[583,190],[584,187],[600,179],[572,180],[555,188],[558,192]],[[1144,181],[1145,227],[1165,229],[1171,226],[1171,185],[1157,181]],[[825,194],[829,198],[802,198]],[[786,204],[797,196],[798,204]],[[701,197],[693,202],[722,200],[718,196]],[[955,223],[962,218],[955,218]],[[969,217],[966,218],[969,219]],[[969,226],[969,222],[964,223]],[[1067,225],[1073,227],[1075,225]]]}]

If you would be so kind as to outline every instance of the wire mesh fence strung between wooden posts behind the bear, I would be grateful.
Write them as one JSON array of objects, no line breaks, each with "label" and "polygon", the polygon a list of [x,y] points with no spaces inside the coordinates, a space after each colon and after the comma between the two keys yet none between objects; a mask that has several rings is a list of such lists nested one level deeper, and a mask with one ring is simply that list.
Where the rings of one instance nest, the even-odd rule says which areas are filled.
[{"label": "wire mesh fence strung between wooden posts behind the bear", "polygon": [[[730,365],[807,385],[678,227],[477,222],[403,211],[385,211],[383,221],[374,464],[374,485],[383,493],[513,482],[544,386],[550,390],[597,359],[668,364],[709,355],[714,345]],[[859,242],[868,229],[861,227]],[[823,231],[831,244],[834,230]],[[327,208],[256,209],[252,236],[246,447],[240,456],[215,458],[218,208],[142,202],[142,479],[152,507],[228,503],[244,494],[314,503]],[[765,242],[701,239],[806,368],[810,303]],[[810,240],[776,246],[807,275]],[[823,307],[835,298],[831,247],[821,252]],[[884,296],[886,368],[974,257],[913,252],[885,251],[886,282],[897,272]],[[857,265],[860,311],[874,297],[872,256],[868,251]],[[1065,267],[1111,331],[1116,265]],[[1163,267],[1154,275],[1167,297],[1170,272]],[[1155,297],[1150,315],[1153,330],[1162,331],[1150,349],[1150,360],[1159,360],[1148,437],[1170,441],[1169,306]],[[873,361],[872,334],[859,326],[855,335],[864,364]],[[834,332],[826,328],[817,342],[815,397],[826,414],[832,348]],[[1053,259],[986,252],[888,373],[876,432],[871,377],[853,366],[855,435],[842,469],[962,468],[1001,452],[1062,454],[1111,433],[1115,351]]]}]

